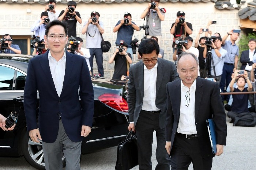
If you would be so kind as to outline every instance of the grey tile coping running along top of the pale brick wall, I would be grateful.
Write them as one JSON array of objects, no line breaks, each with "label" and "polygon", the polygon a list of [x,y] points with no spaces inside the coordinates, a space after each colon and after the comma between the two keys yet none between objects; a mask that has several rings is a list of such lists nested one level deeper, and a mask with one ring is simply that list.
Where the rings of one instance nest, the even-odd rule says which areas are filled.
[{"label": "grey tile coping running along top of the pale brick wall", "polygon": [[[32,3],[45,4],[49,0],[0,0],[0,1],[4,1],[5,3],[16,2],[16,3],[30,3],[30,4],[32,4]],[[60,3],[64,3],[64,4],[68,3],[68,1],[71,1],[71,0],[56,0],[57,3],[60,2]],[[101,2],[122,3],[124,1],[126,1],[127,3],[132,3],[134,1],[137,1],[139,3],[143,3],[145,1],[150,2],[150,0],[74,0],[74,1],[76,3],[80,3],[80,2],[83,2],[83,3],[91,3],[91,2],[94,2],[94,3],[101,3]],[[206,2],[212,1],[215,3],[215,8],[217,8],[217,9],[236,9],[236,8],[240,9],[241,5],[243,5],[246,0],[241,0],[240,4],[237,4],[236,0],[160,0],[161,3],[166,3],[166,2],[176,3],[178,1],[181,1],[182,3],[187,3],[189,1],[191,1],[193,3],[203,1],[206,3]]]}]

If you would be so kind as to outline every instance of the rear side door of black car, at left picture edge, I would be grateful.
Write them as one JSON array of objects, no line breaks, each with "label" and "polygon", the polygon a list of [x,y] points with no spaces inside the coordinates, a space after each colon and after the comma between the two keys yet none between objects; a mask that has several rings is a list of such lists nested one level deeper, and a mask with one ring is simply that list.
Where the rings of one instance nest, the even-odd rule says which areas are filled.
[{"label": "rear side door of black car, at left picture edge", "polygon": [[10,115],[12,111],[19,114],[13,131],[3,131],[0,129],[0,148],[18,147],[18,136],[22,129],[26,127],[23,109],[25,81],[25,72],[0,63],[0,113],[5,117]]}]

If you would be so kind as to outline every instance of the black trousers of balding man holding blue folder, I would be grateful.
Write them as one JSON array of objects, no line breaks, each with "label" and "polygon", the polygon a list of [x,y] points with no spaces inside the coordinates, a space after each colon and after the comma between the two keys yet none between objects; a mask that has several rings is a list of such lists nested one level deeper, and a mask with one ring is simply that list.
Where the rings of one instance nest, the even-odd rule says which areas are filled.
[{"label": "black trousers of balding man holding blue folder", "polygon": [[188,170],[191,162],[194,170],[211,170],[212,167],[212,158],[202,158],[198,139],[186,139],[175,135],[171,150],[172,170]]}]

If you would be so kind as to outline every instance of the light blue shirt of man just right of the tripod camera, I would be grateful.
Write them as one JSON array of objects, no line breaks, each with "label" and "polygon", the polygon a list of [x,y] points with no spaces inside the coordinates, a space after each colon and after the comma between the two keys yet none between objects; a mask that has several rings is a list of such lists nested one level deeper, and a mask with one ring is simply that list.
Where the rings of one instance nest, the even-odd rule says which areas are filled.
[{"label": "light blue shirt of man just right of the tripod camera", "polygon": [[[222,47],[221,47],[221,49],[219,49],[219,53],[221,53],[221,57],[218,57],[217,54],[215,53],[215,50],[213,50],[213,49],[211,50],[211,53],[212,53],[212,59],[213,59],[214,66],[215,66],[216,76],[221,76],[223,66],[224,66],[224,60],[227,55],[227,50],[224,50]],[[214,75],[212,62],[211,62],[211,75]]]}]

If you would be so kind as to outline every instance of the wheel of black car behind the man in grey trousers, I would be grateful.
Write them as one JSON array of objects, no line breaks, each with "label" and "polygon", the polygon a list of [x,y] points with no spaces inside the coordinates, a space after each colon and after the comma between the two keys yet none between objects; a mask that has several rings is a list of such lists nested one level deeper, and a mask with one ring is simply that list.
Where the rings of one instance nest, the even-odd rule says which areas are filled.
[{"label": "wheel of black car behind the man in grey trousers", "polygon": [[[33,142],[29,136],[29,132],[25,132],[22,139],[22,152],[27,162],[39,169],[45,170],[44,151],[42,143]],[[65,166],[65,156],[62,157],[62,165]]]}]

